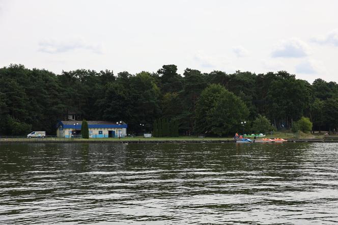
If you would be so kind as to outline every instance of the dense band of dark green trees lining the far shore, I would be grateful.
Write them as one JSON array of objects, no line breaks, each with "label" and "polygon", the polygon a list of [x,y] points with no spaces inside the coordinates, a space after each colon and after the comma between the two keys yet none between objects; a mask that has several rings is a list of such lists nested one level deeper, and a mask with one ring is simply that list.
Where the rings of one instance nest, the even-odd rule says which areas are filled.
[{"label": "dense band of dark green trees lining the far shore", "polygon": [[275,129],[289,129],[304,116],[316,130],[333,130],[338,127],[338,85],[322,79],[311,84],[286,71],[227,74],[187,68],[181,75],[175,65],[156,73],[116,75],[110,70],[57,75],[23,65],[0,69],[1,135],[32,130],[54,135],[55,124],[70,111],[86,120],[123,120],[129,133],[150,132],[163,118],[175,121],[180,134],[254,132],[252,122],[262,116]]}]

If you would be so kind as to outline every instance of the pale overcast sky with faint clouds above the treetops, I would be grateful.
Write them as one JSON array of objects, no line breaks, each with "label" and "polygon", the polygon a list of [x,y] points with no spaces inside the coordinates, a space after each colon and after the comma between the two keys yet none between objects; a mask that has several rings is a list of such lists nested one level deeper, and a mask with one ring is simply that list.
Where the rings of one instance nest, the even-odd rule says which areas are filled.
[{"label": "pale overcast sky with faint clouds above the treetops", "polygon": [[0,0],[0,67],[286,70],[338,82],[338,1]]}]

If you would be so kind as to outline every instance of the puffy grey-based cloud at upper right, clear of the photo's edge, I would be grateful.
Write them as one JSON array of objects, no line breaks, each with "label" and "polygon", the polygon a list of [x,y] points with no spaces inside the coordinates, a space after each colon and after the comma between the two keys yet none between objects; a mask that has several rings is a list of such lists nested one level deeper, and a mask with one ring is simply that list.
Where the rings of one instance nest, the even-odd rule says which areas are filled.
[{"label": "puffy grey-based cloud at upper right, clear of the photo's edge", "polygon": [[308,45],[296,38],[281,41],[272,51],[272,57],[301,58],[309,54]]}]

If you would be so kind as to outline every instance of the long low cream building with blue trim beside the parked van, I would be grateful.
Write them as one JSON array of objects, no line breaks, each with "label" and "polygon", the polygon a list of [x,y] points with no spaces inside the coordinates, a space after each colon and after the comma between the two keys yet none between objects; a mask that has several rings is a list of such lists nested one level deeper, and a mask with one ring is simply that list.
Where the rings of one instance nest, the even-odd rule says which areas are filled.
[{"label": "long low cream building with blue trim beside the parked van", "polygon": [[[87,121],[90,138],[124,137],[127,135],[128,125],[123,121]],[[59,121],[57,136],[72,137],[81,135],[82,121]]]}]

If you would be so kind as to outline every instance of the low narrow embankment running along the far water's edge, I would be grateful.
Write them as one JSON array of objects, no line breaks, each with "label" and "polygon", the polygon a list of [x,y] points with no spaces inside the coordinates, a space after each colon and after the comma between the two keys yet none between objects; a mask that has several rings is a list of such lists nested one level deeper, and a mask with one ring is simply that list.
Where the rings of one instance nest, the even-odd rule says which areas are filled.
[{"label": "low narrow embankment running along the far water's edge", "polygon": [[[205,143],[236,143],[233,139],[213,140],[0,140],[1,144],[74,144],[74,143],[99,143],[99,144],[205,144]],[[325,139],[288,139],[287,143],[338,143],[338,140]],[[242,143],[241,143],[242,144]],[[246,144],[246,143],[243,143]],[[250,143],[254,144],[254,143]],[[256,144],[277,144],[277,143],[256,143]],[[280,143],[278,143],[280,144]]]}]

